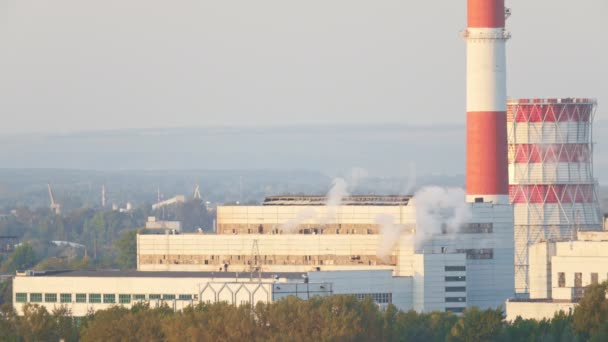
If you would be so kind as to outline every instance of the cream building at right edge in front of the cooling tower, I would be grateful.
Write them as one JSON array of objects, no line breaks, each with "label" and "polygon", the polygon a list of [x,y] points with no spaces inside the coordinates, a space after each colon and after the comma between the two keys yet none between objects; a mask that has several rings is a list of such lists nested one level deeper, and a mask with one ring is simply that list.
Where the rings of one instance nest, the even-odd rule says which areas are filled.
[{"label": "cream building at right edge in front of the cooling tower", "polygon": [[508,320],[571,312],[585,287],[608,280],[608,232],[581,231],[575,238],[530,247],[530,298],[507,301]]}]

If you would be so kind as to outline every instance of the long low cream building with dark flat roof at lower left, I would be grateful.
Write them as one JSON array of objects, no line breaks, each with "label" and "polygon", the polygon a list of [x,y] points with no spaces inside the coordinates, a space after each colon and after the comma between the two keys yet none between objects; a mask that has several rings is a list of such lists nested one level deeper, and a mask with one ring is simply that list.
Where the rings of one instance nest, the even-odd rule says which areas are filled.
[{"label": "long low cream building with dark flat roof at lower left", "polygon": [[333,293],[331,284],[309,281],[306,273],[297,272],[254,277],[235,272],[30,271],[17,274],[13,286],[18,314],[23,313],[20,304],[35,303],[49,311],[65,306],[78,317],[114,305],[166,304],[181,310],[199,302],[243,305]]}]

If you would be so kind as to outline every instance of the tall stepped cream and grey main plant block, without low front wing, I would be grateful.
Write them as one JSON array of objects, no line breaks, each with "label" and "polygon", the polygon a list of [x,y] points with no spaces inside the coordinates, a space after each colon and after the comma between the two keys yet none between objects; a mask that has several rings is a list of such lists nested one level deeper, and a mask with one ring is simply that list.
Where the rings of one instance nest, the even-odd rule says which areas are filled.
[{"label": "tall stepped cream and grey main plant block, without low front wing", "polygon": [[392,301],[403,310],[504,305],[514,293],[511,207],[462,202],[470,219],[456,227],[450,208],[417,225],[428,213],[412,197],[349,197],[336,207],[303,196],[220,206],[218,234],[138,235],[138,270],[388,270],[408,288],[409,298]]}]

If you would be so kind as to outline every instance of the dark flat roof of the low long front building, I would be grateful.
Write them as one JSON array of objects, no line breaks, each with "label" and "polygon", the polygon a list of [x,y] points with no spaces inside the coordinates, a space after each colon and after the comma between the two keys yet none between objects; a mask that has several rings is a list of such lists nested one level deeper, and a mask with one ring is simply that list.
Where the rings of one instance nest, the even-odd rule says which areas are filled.
[{"label": "dark flat roof of the low long front building", "polygon": [[97,271],[25,271],[17,272],[17,276],[30,277],[101,277],[101,278],[286,278],[303,279],[307,277],[306,272],[170,272],[170,271],[119,271],[119,270],[97,270]]}]

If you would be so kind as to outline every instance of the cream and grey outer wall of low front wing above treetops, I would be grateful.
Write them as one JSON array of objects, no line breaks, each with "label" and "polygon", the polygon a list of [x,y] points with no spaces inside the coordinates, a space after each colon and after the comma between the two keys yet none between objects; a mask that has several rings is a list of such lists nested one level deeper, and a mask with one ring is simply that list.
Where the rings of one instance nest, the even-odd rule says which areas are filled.
[{"label": "cream and grey outer wall of low front wing above treetops", "polygon": [[[386,300],[378,302],[382,307],[392,302],[401,310],[410,310],[411,292],[411,277],[393,277],[390,270],[309,272],[308,282],[304,279],[256,279],[255,274],[251,279],[246,275],[240,278],[17,276],[13,283],[13,305],[18,314],[23,314],[23,303],[17,302],[17,294],[28,294],[29,301],[32,293],[39,293],[43,300],[37,304],[49,311],[66,306],[74,316],[84,316],[90,310],[107,309],[114,305],[130,307],[139,302],[131,297],[129,303],[120,303],[121,294],[145,295],[145,301],[152,306],[166,303],[175,310],[199,301],[243,305],[272,302],[288,296],[309,299],[313,296],[349,294]],[[71,294],[71,301],[61,303],[62,293]],[[57,301],[46,302],[45,294],[55,294]],[[76,294],[86,294],[87,301],[77,303]],[[90,294],[99,294],[102,298],[104,294],[113,294],[115,303],[90,303]],[[150,295],[172,295],[175,299],[151,299]],[[180,300],[179,295],[188,295],[189,299]]]}]

